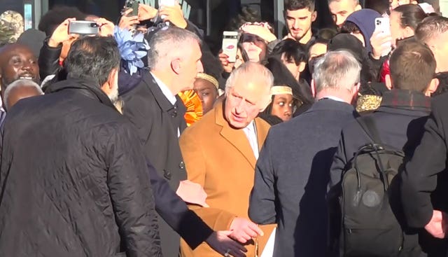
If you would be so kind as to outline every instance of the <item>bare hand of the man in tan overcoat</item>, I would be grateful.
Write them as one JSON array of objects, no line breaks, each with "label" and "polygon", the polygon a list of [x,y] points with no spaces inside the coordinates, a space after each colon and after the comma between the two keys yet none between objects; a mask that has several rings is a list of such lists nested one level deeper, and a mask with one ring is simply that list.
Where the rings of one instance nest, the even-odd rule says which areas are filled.
[{"label": "bare hand of the man in tan overcoat", "polygon": [[232,234],[229,237],[237,240],[241,244],[246,244],[248,240],[258,237],[258,235],[264,235],[258,225],[249,221],[247,218],[234,218],[232,224],[230,224],[230,230]]}]

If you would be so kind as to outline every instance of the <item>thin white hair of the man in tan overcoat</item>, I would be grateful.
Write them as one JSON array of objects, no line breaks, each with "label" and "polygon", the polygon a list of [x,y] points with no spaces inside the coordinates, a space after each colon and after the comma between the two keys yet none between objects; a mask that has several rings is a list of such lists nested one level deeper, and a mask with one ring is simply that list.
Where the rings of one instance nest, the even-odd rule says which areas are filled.
[{"label": "thin white hair of the man in tan overcoat", "polygon": [[[228,80],[225,82],[225,96],[228,96],[230,88],[232,88],[238,80],[244,80],[244,83],[262,82],[260,84],[266,87],[266,92],[271,92],[274,85],[274,75],[262,64],[257,62],[245,62],[240,67],[232,71]],[[260,85],[261,86],[261,85]]]}]

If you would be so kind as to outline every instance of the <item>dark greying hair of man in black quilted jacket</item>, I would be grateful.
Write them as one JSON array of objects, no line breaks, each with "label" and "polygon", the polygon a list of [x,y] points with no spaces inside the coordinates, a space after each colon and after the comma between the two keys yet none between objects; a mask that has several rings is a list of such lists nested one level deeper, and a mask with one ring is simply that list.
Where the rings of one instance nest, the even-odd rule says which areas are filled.
[{"label": "dark greying hair of man in black quilted jacket", "polygon": [[111,36],[85,36],[75,41],[64,61],[68,76],[93,80],[101,87],[120,66],[120,53]]}]

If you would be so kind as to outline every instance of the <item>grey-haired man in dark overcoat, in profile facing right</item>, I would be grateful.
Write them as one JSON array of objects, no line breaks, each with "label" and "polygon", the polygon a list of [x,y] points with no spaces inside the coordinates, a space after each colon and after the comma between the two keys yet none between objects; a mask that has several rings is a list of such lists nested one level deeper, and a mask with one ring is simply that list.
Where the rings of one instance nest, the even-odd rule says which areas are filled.
[{"label": "grey-haired man in dark overcoat, in profile facing right", "polygon": [[[180,243],[174,230],[193,248],[206,239],[214,244],[219,237],[216,232],[211,234],[207,225],[188,212],[186,204],[179,202],[173,193],[175,191],[186,202],[205,205],[207,195],[202,187],[186,180],[178,139],[186,128],[183,118],[186,107],[177,96],[181,90],[193,88],[196,74],[202,72],[202,53],[200,39],[177,27],[155,33],[149,46],[150,72],[142,72],[141,83],[122,95],[123,114],[137,127],[146,158],[155,168],[149,169],[150,172],[158,172],[158,176],[153,176],[158,181],[152,183],[160,186],[163,192],[157,195],[165,196],[156,197],[156,208],[163,217],[159,218],[162,252],[165,257],[172,257],[179,256]],[[165,181],[160,181],[160,176]],[[227,249],[219,252],[225,253]]]}]

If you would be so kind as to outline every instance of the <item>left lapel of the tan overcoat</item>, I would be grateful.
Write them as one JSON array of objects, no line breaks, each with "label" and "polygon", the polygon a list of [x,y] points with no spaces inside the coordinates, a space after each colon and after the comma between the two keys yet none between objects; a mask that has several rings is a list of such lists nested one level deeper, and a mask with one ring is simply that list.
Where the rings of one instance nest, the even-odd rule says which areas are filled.
[{"label": "left lapel of the tan overcoat", "polygon": [[216,124],[222,127],[221,136],[229,141],[230,144],[235,146],[236,150],[239,151],[241,155],[244,155],[244,158],[246,158],[246,160],[255,169],[256,160],[255,156],[253,155],[251,144],[249,144],[249,141],[246,137],[246,133],[244,133],[243,130],[235,130],[230,127],[229,123],[224,118],[223,105],[224,102],[222,104],[218,104],[214,110],[216,115]]}]

